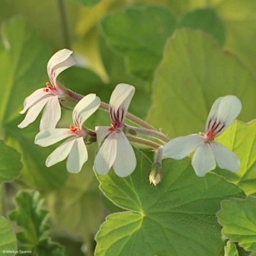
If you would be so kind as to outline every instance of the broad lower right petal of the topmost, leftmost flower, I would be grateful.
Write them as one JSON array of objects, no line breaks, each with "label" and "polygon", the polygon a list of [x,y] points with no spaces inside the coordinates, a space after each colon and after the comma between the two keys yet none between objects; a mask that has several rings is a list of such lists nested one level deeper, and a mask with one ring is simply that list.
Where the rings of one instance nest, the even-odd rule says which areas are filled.
[{"label": "broad lower right petal of the topmost, leftmost flower", "polygon": [[40,122],[40,131],[46,129],[54,129],[60,120],[61,108],[57,96],[49,98]]}]

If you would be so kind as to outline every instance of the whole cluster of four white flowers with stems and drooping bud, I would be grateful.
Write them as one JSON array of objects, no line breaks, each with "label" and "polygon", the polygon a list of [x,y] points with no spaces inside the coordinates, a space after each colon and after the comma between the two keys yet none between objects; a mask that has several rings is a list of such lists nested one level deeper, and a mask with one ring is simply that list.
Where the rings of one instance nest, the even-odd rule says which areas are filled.
[{"label": "whole cluster of four white flowers with stems and drooping bud", "polygon": [[[134,141],[157,150],[149,176],[150,182],[154,185],[162,178],[163,156],[182,159],[195,151],[192,166],[198,176],[204,176],[205,173],[214,170],[216,163],[220,168],[231,172],[239,169],[240,163],[236,154],[214,140],[239,115],[242,106],[236,96],[227,95],[214,102],[205,124],[204,134],[191,134],[170,140],[151,125],[127,113],[135,93],[134,86],[118,84],[109,104],[106,104],[93,93],[82,97],[58,82],[58,75],[76,64],[71,54],[72,51],[63,49],[52,56],[47,65],[50,83],[46,83],[46,88],[40,88],[29,95],[24,101],[24,109],[20,111],[22,114],[27,111],[26,117],[18,125],[23,128],[34,122],[44,108],[40,132],[35,138],[37,145],[47,147],[67,139],[47,157],[46,166],[52,166],[67,158],[68,172],[78,173],[88,159],[86,145],[97,141],[99,149],[94,161],[96,172],[106,175],[113,167],[116,175],[127,177],[136,168],[136,156],[130,143]],[[65,100],[77,102],[72,115],[74,124],[69,128],[56,128]],[[95,131],[92,131],[84,122],[99,108],[109,111],[111,126],[97,126]],[[126,118],[136,126],[125,124]],[[145,136],[149,140],[145,139]],[[154,141],[150,138],[154,138]]]}]

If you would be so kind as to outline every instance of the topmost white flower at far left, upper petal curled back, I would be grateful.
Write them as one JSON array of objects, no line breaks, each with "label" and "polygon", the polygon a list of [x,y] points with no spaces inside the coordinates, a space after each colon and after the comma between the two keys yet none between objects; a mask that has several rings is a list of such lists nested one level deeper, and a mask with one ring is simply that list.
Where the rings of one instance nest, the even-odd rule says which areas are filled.
[{"label": "topmost white flower at far left, upper petal curled back", "polygon": [[72,51],[62,49],[51,57],[47,65],[47,73],[51,83],[46,83],[46,88],[36,90],[25,99],[24,109],[20,111],[20,114],[28,112],[24,120],[18,125],[19,128],[24,128],[34,122],[44,106],[40,131],[56,127],[61,116],[59,99],[65,94],[63,86],[56,79],[63,70],[76,64],[76,60],[71,54]]}]

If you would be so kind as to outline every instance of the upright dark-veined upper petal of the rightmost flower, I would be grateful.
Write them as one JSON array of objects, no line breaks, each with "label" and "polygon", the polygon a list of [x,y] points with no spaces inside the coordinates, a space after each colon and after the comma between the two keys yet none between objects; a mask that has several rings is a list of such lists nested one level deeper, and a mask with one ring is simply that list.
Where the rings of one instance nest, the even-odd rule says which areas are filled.
[{"label": "upright dark-veined upper petal of the rightmost flower", "polygon": [[236,96],[220,97],[212,105],[205,132],[214,131],[215,136],[220,135],[237,118],[241,109],[241,101]]}]

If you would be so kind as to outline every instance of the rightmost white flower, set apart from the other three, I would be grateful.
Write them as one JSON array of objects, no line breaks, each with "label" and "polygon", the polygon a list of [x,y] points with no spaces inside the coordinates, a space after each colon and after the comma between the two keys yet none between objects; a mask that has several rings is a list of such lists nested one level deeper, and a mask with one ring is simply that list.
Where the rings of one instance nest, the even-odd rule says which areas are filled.
[{"label": "rightmost white flower, set apart from the other three", "polygon": [[191,134],[170,140],[164,145],[163,153],[167,157],[182,159],[196,149],[192,159],[192,166],[198,176],[216,168],[236,172],[240,167],[237,155],[217,141],[219,136],[237,118],[242,104],[236,96],[227,95],[218,98],[212,105],[205,125],[203,135]]}]

